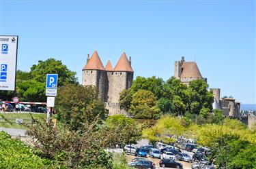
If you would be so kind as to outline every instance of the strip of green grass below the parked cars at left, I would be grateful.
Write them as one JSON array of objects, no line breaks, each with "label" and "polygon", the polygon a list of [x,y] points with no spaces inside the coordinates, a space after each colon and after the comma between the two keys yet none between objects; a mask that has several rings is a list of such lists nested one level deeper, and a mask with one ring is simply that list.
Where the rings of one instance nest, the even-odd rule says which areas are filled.
[{"label": "strip of green grass below the parked cars at left", "polygon": [[1,128],[17,128],[27,129],[25,126],[16,123],[16,119],[23,119],[24,123],[31,122],[31,115],[33,118],[46,118],[43,113],[0,113],[0,127]]}]

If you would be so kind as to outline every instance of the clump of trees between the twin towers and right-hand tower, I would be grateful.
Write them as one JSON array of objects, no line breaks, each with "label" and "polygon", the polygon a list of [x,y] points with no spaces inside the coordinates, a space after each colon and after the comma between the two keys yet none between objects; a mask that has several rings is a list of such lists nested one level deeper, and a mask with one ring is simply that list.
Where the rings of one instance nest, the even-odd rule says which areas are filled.
[{"label": "clump of trees between the twin towers and right-hand tower", "polygon": [[120,94],[119,104],[135,118],[159,119],[163,114],[200,115],[208,117],[214,97],[202,79],[190,81],[189,86],[171,77],[166,82],[156,77],[137,77],[130,90]]}]

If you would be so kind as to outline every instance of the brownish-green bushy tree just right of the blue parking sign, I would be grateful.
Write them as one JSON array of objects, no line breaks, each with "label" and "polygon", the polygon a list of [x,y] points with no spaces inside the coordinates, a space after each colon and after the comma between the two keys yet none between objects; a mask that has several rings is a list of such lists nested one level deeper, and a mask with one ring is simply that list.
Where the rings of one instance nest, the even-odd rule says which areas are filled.
[{"label": "brownish-green bushy tree just right of the blue parking sign", "polygon": [[108,115],[93,86],[62,86],[58,89],[55,105],[57,119],[70,126],[72,130],[79,130],[85,121],[94,121],[96,117],[104,120]]}]

